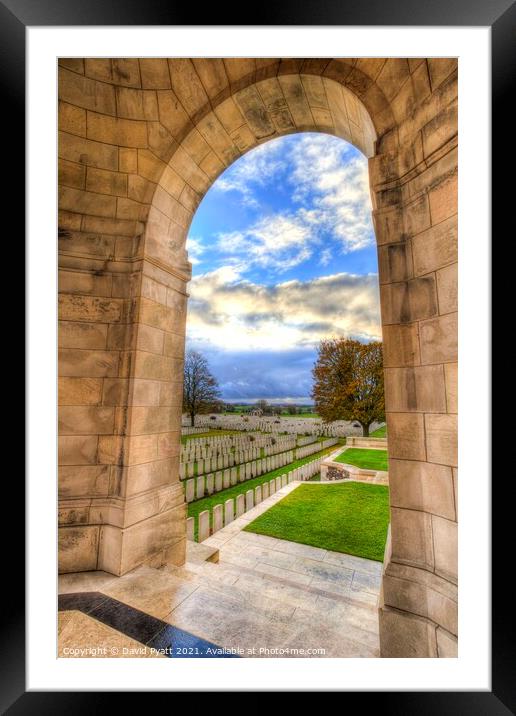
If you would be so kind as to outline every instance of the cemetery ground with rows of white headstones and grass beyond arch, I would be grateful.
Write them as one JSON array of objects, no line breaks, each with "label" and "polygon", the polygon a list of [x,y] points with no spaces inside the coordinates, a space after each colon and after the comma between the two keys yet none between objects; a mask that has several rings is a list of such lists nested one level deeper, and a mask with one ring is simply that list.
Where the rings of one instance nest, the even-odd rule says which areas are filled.
[{"label": "cemetery ground with rows of white headstones and grass beyond arch", "polygon": [[[202,416],[198,421],[204,422]],[[287,419],[281,419],[280,428],[283,428],[283,422]],[[315,435],[284,434],[283,431],[232,431],[227,434],[224,430],[212,430],[206,436],[189,433],[181,447],[180,463],[188,504],[187,539],[204,542],[281,487],[294,482],[340,481],[354,477],[385,484],[387,451],[380,447],[386,446],[386,439],[365,439],[368,445],[378,443],[369,449],[348,447],[348,440],[360,444],[361,439],[353,435],[325,439]],[[329,478],[327,465],[333,465],[332,461],[345,465],[348,472],[338,470],[333,478]],[[350,465],[361,469],[350,474]],[[360,510],[355,517],[357,515],[360,519]],[[288,520],[285,526],[288,529]],[[335,523],[329,532],[339,529],[339,523]],[[297,539],[293,541],[303,542],[303,533],[297,530],[296,534]],[[310,536],[306,539],[306,544],[312,544]],[[330,540],[332,544],[333,541]]]}]

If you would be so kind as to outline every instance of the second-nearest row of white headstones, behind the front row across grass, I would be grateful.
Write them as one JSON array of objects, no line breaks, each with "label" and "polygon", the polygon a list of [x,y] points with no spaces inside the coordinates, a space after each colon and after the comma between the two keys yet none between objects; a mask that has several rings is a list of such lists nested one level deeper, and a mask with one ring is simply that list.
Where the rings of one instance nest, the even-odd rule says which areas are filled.
[{"label": "second-nearest row of white headstones, behind the front row across grass", "polygon": [[185,499],[187,502],[200,500],[205,495],[212,495],[214,492],[227,490],[228,487],[234,487],[237,482],[245,482],[253,477],[259,477],[272,470],[288,465],[294,460],[294,452],[292,450],[274,455],[272,457],[247,462],[230,470],[210,473],[209,475],[200,475],[195,479],[185,482]]}]

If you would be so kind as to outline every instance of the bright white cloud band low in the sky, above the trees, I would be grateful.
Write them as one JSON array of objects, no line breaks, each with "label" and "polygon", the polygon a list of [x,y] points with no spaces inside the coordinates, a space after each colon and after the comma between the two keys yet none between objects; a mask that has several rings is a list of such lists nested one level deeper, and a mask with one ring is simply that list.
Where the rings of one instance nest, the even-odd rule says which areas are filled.
[{"label": "bright white cloud band low in the sky, above the trees", "polygon": [[190,284],[188,334],[220,350],[286,350],[322,338],[381,335],[376,274],[338,273],[266,286],[241,278],[233,266]]}]

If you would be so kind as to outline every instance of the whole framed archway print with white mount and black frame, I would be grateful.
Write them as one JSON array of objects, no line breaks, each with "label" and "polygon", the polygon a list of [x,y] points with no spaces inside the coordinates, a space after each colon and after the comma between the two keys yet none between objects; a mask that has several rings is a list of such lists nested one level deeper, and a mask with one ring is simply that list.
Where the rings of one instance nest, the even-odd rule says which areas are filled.
[{"label": "whole framed archway print with white mount and black frame", "polygon": [[4,3],[29,317],[9,713],[117,690],[514,708],[490,588],[501,5],[192,26]]}]

